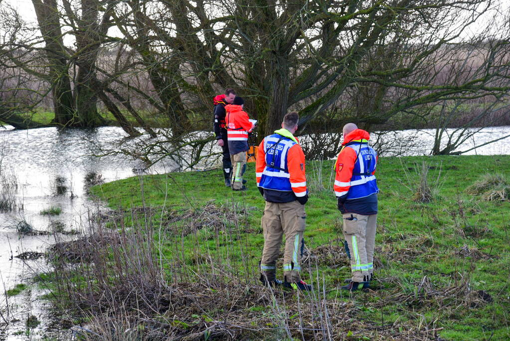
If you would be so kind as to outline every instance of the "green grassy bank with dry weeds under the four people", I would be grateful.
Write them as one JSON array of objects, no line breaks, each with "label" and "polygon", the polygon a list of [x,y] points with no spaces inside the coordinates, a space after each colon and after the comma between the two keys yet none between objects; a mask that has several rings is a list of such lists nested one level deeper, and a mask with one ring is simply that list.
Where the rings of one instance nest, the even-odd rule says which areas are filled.
[{"label": "green grassy bank with dry weeds under the four people", "polygon": [[[106,225],[138,237],[111,242],[109,260],[94,260],[93,271],[84,265],[72,273],[75,291],[87,297],[81,308],[97,316],[111,313],[114,305],[124,307],[116,312],[130,316],[119,318],[124,328],[147,338],[154,329],[190,338],[510,337],[510,202],[484,200],[488,188],[480,194],[467,190],[486,174],[510,178],[510,156],[381,158],[377,280],[374,290],[352,295],[339,290],[350,270],[330,190],[331,164],[307,165],[310,256],[303,277],[316,288],[313,294],[272,292],[258,283],[264,201],[250,163],[245,192],[222,186],[219,170],[94,187],[115,212]],[[424,171],[432,189],[429,203],[414,201]],[[497,186],[493,199],[504,187]],[[277,265],[282,277],[281,260]],[[122,287],[124,280],[129,287]],[[109,293],[114,294],[108,304],[93,299]],[[136,304],[127,303],[133,293]]]}]

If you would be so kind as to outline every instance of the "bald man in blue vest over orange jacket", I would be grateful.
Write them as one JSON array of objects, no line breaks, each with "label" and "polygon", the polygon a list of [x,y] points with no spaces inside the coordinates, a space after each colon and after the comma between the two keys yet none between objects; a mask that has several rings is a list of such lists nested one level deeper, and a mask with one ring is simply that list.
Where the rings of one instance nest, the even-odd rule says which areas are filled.
[{"label": "bald man in blue vest over orange jacket", "polygon": [[345,250],[350,258],[352,278],[342,289],[369,287],[373,276],[375,226],[377,223],[377,153],[368,145],[368,132],[348,123],[344,142],[335,163],[333,189],[343,216]]}]

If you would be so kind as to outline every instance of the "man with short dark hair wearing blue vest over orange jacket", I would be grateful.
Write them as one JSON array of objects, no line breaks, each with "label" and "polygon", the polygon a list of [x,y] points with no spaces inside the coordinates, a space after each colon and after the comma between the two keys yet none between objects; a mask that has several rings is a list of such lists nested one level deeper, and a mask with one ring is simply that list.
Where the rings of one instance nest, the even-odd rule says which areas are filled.
[{"label": "man with short dark hair wearing blue vest over orange jacket", "polygon": [[[301,280],[301,243],[305,229],[304,204],[308,201],[304,154],[294,137],[299,116],[290,112],[284,117],[282,129],[266,136],[257,155],[257,186],[266,206],[262,216],[264,249],[261,281],[265,285],[311,290]],[[276,279],[276,259],[285,233],[284,282]]]}]

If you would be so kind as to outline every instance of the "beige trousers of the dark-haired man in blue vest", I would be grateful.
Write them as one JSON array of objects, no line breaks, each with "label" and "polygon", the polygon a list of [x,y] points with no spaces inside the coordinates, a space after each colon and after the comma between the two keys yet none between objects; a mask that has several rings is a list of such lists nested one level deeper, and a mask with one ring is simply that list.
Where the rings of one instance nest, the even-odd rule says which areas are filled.
[{"label": "beige trousers of the dark-haired man in blue vest", "polygon": [[262,216],[264,249],[260,264],[261,271],[268,279],[274,278],[276,259],[280,254],[282,236],[285,233],[284,278],[287,282],[299,282],[301,277],[301,242],[307,214],[304,205],[297,200],[290,203],[266,201]]}]

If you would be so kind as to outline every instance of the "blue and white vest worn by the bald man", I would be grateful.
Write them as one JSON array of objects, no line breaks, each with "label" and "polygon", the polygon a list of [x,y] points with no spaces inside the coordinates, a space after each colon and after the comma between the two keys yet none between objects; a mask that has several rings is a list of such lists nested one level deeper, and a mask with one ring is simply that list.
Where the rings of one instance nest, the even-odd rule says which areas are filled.
[{"label": "blue and white vest worn by the bald man", "polygon": [[[349,186],[347,199],[359,199],[368,197],[379,191],[377,180],[372,173],[377,166],[377,154],[374,149],[366,143],[356,143],[348,145],[346,148],[352,148],[358,157],[352,169],[352,177],[349,182],[340,182],[335,180],[337,186]],[[335,193],[339,196],[337,193]],[[341,193],[343,195],[345,193]]]}]

